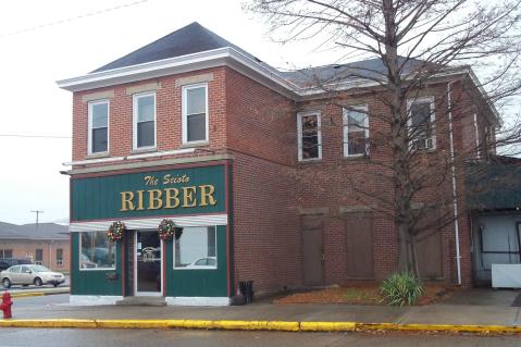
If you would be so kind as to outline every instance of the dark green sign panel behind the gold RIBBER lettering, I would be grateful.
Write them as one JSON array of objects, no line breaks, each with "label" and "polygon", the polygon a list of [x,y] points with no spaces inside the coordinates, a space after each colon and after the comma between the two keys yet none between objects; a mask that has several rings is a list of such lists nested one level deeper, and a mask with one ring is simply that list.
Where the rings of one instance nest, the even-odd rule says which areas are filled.
[{"label": "dark green sign panel behind the gold RIBBER lettering", "polygon": [[[225,170],[224,165],[213,165],[204,168],[175,169],[163,171],[150,171],[144,173],[119,174],[102,177],[78,178],[72,181],[72,221],[104,220],[104,219],[125,219],[125,218],[146,218],[173,214],[197,214],[224,212],[225,206]],[[165,177],[186,177],[187,182],[172,183],[166,182]],[[156,177],[156,184],[147,181],[145,177]],[[210,205],[207,196],[207,206],[201,206],[201,193],[209,193],[209,188],[200,186],[211,185],[214,193],[211,195],[215,205]],[[183,207],[184,188],[196,187],[194,195],[196,207]],[[165,208],[166,188],[175,188],[179,193],[179,207]],[[150,209],[150,190],[159,189],[162,194],[163,207]],[[207,189],[207,190],[204,190]],[[139,209],[139,190],[142,193],[142,210]],[[202,191],[201,191],[202,190]],[[134,210],[122,211],[122,193],[132,191],[134,198],[132,202]],[[172,190],[173,191],[173,190]],[[129,197],[126,195],[125,197]],[[171,200],[173,201],[173,200]],[[193,202],[188,200],[187,202]],[[190,205],[190,203],[187,203]],[[126,203],[126,208],[131,205]]]}]

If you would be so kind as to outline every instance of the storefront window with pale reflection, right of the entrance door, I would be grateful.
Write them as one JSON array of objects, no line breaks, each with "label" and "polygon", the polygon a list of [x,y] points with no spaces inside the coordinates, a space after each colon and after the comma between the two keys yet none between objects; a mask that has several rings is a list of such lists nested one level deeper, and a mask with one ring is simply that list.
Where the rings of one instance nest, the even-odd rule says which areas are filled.
[{"label": "storefront window with pale reflection, right of the entrance door", "polygon": [[216,269],[215,226],[185,227],[175,232],[175,269]]}]

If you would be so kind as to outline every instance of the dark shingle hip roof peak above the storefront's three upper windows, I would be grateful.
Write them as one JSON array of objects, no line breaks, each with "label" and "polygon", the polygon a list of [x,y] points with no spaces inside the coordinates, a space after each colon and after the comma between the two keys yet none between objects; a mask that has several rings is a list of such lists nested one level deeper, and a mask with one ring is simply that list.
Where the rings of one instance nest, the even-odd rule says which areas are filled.
[{"label": "dark shingle hip roof peak above the storefront's three upper windows", "polygon": [[103,65],[95,71],[101,72],[119,67],[132,66],[152,61],[175,58],[186,54],[193,54],[209,51],[218,48],[232,47],[239,52],[253,58],[244,49],[228,42],[215,33],[207,29],[197,22],[194,22],[181,29],[177,29],[162,38],[144,46],[132,53],[126,54],[113,62]]}]

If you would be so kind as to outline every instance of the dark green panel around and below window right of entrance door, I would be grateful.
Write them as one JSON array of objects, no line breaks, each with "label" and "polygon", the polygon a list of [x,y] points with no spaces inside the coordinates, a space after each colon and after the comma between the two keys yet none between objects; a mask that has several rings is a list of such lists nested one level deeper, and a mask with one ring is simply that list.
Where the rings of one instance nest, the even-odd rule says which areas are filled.
[{"label": "dark green panel around and below window right of entrance door", "polygon": [[166,293],[170,297],[226,297],[226,226],[216,227],[218,269],[174,270],[173,241],[166,243]]}]

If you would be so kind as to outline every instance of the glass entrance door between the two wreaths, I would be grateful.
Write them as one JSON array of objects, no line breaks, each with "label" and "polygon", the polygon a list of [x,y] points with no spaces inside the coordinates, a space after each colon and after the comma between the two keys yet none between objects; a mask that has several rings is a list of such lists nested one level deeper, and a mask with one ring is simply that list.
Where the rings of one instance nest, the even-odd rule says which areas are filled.
[{"label": "glass entrance door between the two wreaths", "polygon": [[136,231],[135,239],[135,295],[162,295],[161,240],[156,231]]}]

